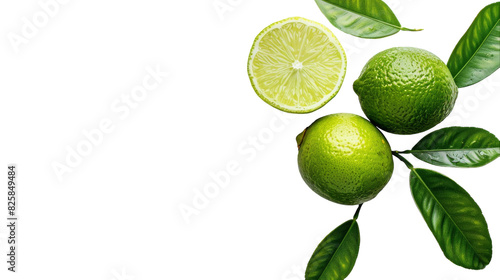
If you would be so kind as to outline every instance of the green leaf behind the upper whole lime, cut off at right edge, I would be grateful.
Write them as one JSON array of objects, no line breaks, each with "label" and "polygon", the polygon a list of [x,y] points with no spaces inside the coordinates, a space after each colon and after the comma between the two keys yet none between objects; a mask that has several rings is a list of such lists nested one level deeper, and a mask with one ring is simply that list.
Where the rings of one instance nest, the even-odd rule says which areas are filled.
[{"label": "green leaf behind the upper whole lime, cut off at right edge", "polygon": [[448,60],[459,88],[473,85],[500,68],[500,2],[486,6]]}]

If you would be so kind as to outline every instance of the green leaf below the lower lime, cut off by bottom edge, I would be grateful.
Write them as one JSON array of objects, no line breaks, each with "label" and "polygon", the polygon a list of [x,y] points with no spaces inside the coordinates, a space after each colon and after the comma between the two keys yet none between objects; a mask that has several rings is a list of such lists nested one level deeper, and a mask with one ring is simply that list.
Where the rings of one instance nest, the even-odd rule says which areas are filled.
[{"label": "green leaf below the lower lime, cut off by bottom edge", "polygon": [[342,280],[351,273],[359,252],[359,227],[349,220],[318,245],[306,269],[306,280]]}]

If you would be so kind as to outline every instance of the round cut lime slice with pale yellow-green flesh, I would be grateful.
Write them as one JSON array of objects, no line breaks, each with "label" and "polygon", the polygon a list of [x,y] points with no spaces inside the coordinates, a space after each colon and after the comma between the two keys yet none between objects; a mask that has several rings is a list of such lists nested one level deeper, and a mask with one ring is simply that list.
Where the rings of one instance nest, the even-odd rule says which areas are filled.
[{"label": "round cut lime slice with pale yellow-green flesh", "polygon": [[257,95],[290,113],[310,113],[339,91],[346,72],[344,49],[320,23],[293,17],[255,38],[248,76]]}]

